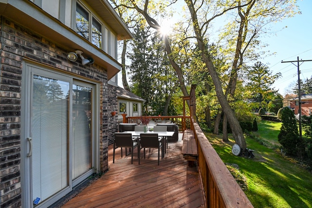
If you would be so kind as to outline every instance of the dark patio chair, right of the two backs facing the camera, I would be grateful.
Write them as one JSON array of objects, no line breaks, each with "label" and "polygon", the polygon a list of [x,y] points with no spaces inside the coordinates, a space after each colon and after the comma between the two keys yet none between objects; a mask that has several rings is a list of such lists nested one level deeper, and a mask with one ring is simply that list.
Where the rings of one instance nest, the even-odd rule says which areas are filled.
[{"label": "dark patio chair, right of the two backs facing the camera", "polygon": [[[158,166],[159,166],[159,156],[160,150],[162,150],[162,138],[158,138],[158,133],[140,133],[139,147],[138,147],[138,164],[140,164],[140,152],[144,149],[145,158],[145,148],[156,148],[158,149]],[[163,152],[161,151],[161,158],[163,158]]]}]

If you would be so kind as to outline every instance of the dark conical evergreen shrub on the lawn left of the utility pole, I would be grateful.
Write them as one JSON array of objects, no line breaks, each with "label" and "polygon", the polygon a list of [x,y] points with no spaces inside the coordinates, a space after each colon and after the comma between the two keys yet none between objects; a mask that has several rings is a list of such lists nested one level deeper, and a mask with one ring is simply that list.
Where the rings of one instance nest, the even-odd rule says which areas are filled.
[{"label": "dark conical evergreen shrub on the lawn left of the utility pole", "polygon": [[300,145],[297,120],[291,109],[285,108],[282,113],[282,126],[278,134],[278,141],[286,153],[296,155]]}]

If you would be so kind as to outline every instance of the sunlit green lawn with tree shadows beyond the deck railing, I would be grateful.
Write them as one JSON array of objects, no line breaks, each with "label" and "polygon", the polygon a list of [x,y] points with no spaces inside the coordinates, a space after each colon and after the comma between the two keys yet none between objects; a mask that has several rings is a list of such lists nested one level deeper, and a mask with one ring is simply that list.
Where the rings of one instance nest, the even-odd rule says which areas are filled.
[{"label": "sunlit green lawn with tree shadows beyond the deck railing", "polygon": [[224,163],[239,166],[238,173],[247,185],[244,191],[255,208],[312,208],[312,173],[273,149],[279,146],[280,126],[281,123],[261,121],[256,139],[246,138],[248,148],[255,150],[253,159],[234,156],[231,138],[229,143],[210,133],[207,138]]}]

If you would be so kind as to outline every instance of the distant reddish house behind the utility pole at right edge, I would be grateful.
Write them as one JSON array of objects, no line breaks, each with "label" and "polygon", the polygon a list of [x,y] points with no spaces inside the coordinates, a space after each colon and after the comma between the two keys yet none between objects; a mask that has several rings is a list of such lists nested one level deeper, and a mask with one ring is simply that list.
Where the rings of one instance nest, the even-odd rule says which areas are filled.
[{"label": "distant reddish house behind the utility pole at right edge", "polygon": [[[301,95],[301,115],[311,115],[312,114],[312,94]],[[290,108],[294,114],[299,113],[299,98],[295,97],[289,100]]]}]

